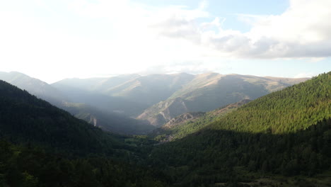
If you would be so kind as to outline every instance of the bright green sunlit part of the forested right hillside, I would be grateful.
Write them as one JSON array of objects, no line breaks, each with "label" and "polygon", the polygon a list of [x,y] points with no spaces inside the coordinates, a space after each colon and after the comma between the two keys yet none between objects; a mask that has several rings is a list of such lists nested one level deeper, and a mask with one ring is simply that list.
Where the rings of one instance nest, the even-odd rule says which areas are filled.
[{"label": "bright green sunlit part of the forested right hillside", "polygon": [[241,132],[296,132],[331,117],[331,72],[276,91],[211,125]]}]

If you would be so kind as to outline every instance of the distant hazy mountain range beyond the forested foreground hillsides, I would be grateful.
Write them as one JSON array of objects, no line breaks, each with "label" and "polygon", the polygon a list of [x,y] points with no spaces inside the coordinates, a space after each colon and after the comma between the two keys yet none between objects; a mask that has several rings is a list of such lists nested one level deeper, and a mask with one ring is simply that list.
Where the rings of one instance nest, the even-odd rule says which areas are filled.
[{"label": "distant hazy mountain range beyond the forested foreground hillsides", "polygon": [[255,99],[308,78],[127,74],[47,84],[19,72],[1,72],[0,79],[104,130],[146,134],[182,113],[207,112],[243,99]]}]

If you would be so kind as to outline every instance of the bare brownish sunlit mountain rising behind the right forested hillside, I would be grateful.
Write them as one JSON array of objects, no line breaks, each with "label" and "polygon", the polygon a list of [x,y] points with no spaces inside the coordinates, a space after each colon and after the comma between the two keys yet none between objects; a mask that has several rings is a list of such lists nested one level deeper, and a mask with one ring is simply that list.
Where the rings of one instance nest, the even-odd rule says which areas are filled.
[{"label": "bare brownish sunlit mountain rising behind the right forested hillside", "polygon": [[[138,119],[149,120],[152,125],[161,126],[181,113],[211,111],[243,99],[264,96],[303,80],[305,79],[275,78],[274,80],[238,74],[199,74],[167,100],[147,108]],[[175,112],[169,108],[179,104],[182,107],[175,108]],[[171,115],[172,113],[175,115]]]}]

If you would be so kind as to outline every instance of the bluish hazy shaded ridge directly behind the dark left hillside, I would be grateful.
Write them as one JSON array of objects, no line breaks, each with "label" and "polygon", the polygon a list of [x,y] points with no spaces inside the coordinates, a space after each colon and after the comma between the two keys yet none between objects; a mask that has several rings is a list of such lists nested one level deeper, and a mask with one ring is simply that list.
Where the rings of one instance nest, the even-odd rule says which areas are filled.
[{"label": "bluish hazy shaded ridge directly behind the dark left hillside", "polygon": [[144,135],[155,127],[144,121],[118,113],[100,111],[83,103],[64,103],[62,108],[76,118],[86,120],[95,127],[125,135]]}]

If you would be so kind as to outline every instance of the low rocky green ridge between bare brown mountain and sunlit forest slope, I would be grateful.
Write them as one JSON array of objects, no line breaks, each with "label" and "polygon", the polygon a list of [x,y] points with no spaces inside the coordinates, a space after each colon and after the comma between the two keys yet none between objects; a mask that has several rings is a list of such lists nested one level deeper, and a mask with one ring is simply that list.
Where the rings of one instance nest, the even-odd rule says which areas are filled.
[{"label": "low rocky green ridge between bare brown mountain and sunlit forest slope", "polygon": [[250,102],[246,99],[238,103],[232,103],[214,111],[183,113],[165,123],[161,128],[149,133],[149,137],[160,142],[169,142],[190,135],[209,125],[216,119],[235,111],[240,106]]}]

